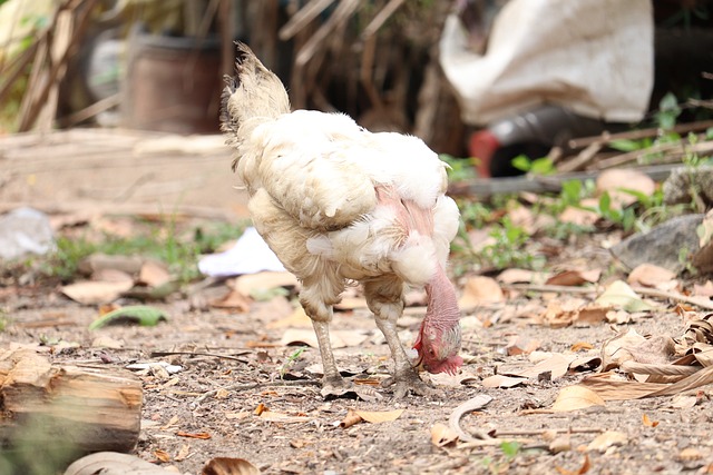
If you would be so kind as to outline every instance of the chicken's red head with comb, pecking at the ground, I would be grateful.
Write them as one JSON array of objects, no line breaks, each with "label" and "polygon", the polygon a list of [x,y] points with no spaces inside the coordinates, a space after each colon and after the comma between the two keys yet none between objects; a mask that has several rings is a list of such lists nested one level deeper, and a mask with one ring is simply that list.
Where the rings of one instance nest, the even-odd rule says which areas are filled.
[{"label": "chicken's red head with comb, pecking at the ground", "polygon": [[432,374],[448,373],[455,375],[462,366],[463,358],[458,356],[460,352],[460,325],[446,328],[431,326],[423,320],[419,336],[413,344],[413,349],[419,354],[419,364]]}]

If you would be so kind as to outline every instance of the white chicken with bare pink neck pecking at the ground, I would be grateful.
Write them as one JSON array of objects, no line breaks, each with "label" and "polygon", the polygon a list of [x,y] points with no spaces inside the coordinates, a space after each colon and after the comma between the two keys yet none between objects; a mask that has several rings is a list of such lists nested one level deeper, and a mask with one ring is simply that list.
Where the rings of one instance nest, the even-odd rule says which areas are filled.
[{"label": "white chicken with bare pink neck pecking at the ground", "polygon": [[287,92],[237,43],[223,92],[222,130],[250,192],[255,228],[302,283],[324,366],[322,394],[356,392],[330,344],[332,306],[349,281],[363,285],[394,360],[394,396],[432,393],[397,335],[406,286],[426,287],[428,309],[413,347],[430,373],[462,365],[460,313],[446,275],[458,207],[445,195],[446,165],[420,139],[371,133],[341,113],[291,112]]}]

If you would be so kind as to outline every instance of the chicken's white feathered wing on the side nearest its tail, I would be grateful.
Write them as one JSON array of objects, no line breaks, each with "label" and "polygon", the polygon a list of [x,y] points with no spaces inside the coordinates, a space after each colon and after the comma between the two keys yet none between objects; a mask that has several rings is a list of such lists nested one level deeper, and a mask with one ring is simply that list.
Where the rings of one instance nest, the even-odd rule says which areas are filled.
[{"label": "chicken's white feathered wing on the side nearest its tail", "polygon": [[364,133],[346,116],[284,115],[251,136],[245,147],[253,157],[241,159],[248,158],[243,179],[264,188],[304,228],[343,228],[377,205],[373,181],[360,162],[368,152]]}]

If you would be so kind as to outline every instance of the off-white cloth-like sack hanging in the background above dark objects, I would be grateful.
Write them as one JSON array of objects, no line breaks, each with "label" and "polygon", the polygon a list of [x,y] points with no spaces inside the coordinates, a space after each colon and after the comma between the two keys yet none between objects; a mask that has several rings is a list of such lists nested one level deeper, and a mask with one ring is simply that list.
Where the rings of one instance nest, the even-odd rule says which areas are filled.
[{"label": "off-white cloth-like sack hanging in the background above dark objects", "polygon": [[476,126],[541,103],[615,122],[643,118],[654,81],[651,0],[511,0],[485,55],[468,50],[457,16],[440,61],[465,122]]}]

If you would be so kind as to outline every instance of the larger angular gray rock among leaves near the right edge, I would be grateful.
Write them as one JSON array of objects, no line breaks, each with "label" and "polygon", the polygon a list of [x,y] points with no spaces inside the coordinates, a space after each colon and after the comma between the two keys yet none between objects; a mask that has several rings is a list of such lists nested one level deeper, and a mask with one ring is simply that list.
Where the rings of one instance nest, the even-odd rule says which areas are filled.
[{"label": "larger angular gray rock among leaves near the right edge", "polygon": [[685,268],[678,260],[682,249],[688,254],[699,250],[696,228],[705,215],[680,216],[648,232],[636,234],[612,247],[612,255],[633,269],[639,264],[654,264],[674,273]]}]

